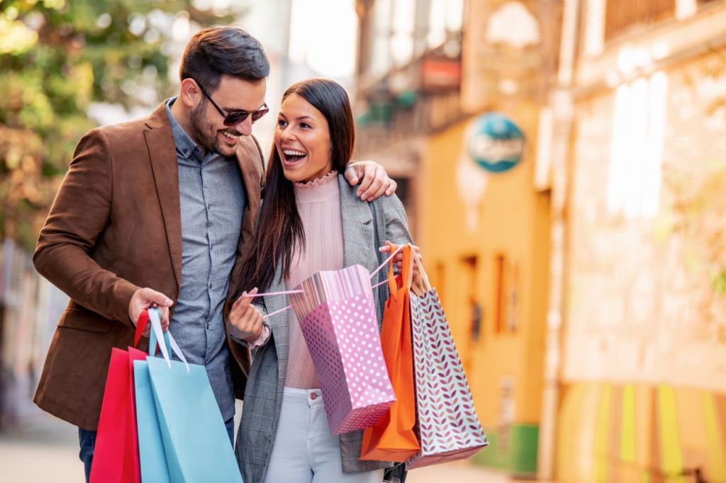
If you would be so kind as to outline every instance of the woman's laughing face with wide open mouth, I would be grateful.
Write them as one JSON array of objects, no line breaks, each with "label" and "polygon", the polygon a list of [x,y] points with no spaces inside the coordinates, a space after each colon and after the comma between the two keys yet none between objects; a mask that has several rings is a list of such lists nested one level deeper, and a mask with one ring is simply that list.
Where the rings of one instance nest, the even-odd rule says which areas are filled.
[{"label": "woman's laughing face with wide open mouth", "polygon": [[313,181],[332,169],[327,119],[298,94],[282,101],[274,144],[290,181]]}]

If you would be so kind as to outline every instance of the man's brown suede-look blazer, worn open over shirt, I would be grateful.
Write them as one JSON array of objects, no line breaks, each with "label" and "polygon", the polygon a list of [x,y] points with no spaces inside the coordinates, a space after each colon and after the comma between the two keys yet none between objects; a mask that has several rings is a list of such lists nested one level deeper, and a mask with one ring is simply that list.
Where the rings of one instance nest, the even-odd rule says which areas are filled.
[{"label": "man's brown suede-look blazer, worn open over shirt", "polygon": [[[240,288],[260,203],[262,155],[251,136],[240,137],[237,160],[247,202],[230,295]],[[175,302],[179,296],[179,174],[164,104],[150,117],[96,128],[78,142],[33,262],[70,297],[34,400],[71,424],[97,429],[111,348],[133,344],[131,296],[142,287]],[[235,394],[241,397],[250,355],[228,340]]]}]

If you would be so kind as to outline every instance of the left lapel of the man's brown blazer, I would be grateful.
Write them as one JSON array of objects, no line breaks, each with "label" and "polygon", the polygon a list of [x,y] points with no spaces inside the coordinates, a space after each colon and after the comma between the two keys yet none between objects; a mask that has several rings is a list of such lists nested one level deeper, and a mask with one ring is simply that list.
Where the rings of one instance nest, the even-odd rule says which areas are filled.
[{"label": "left lapel of the man's brown blazer", "polygon": [[179,168],[171,124],[166,116],[165,103],[152,113],[144,130],[149,159],[154,173],[156,192],[166,228],[174,276],[181,286],[181,207],[179,206]]}]

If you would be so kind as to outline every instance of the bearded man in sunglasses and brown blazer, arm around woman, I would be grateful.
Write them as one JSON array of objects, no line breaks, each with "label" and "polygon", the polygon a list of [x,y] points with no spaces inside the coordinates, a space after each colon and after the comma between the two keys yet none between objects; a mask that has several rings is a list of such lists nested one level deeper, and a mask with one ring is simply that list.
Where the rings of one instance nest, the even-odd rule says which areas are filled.
[{"label": "bearded man in sunglasses and brown blazer, arm around woman", "polygon": [[[202,30],[184,51],[179,96],[76,146],[33,255],[38,273],[71,299],[35,402],[78,426],[86,480],[110,350],[132,344],[139,314],[153,305],[189,362],[207,368],[232,439],[250,357],[229,344],[222,311],[240,289],[260,203],[262,154],[251,133],[267,112],[268,74],[245,30]],[[396,188],[372,162],[346,178],[362,178],[362,199]]]}]

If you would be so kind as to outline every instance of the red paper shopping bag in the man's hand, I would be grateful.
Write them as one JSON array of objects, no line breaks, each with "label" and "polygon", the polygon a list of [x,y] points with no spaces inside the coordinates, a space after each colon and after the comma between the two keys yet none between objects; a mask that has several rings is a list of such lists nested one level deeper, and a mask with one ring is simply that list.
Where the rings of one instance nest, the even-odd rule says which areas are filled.
[{"label": "red paper shopping bag in the man's hand", "polygon": [[[146,310],[136,323],[134,345],[149,321]],[[136,436],[134,360],[146,360],[146,352],[129,347],[113,348],[103,393],[91,483],[140,483],[139,441]]]}]

